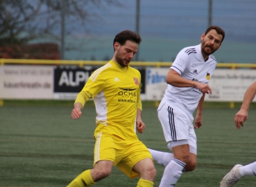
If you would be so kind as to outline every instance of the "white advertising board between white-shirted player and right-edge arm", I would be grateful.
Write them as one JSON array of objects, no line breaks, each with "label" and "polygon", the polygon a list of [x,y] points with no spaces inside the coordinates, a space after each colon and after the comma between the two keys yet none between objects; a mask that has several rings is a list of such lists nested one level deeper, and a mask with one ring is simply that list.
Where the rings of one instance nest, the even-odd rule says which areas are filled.
[{"label": "white advertising board between white-shirted player and right-edge arm", "polygon": [[205,94],[205,100],[241,102],[246,89],[255,81],[255,69],[216,69],[209,82],[212,94]]}]

